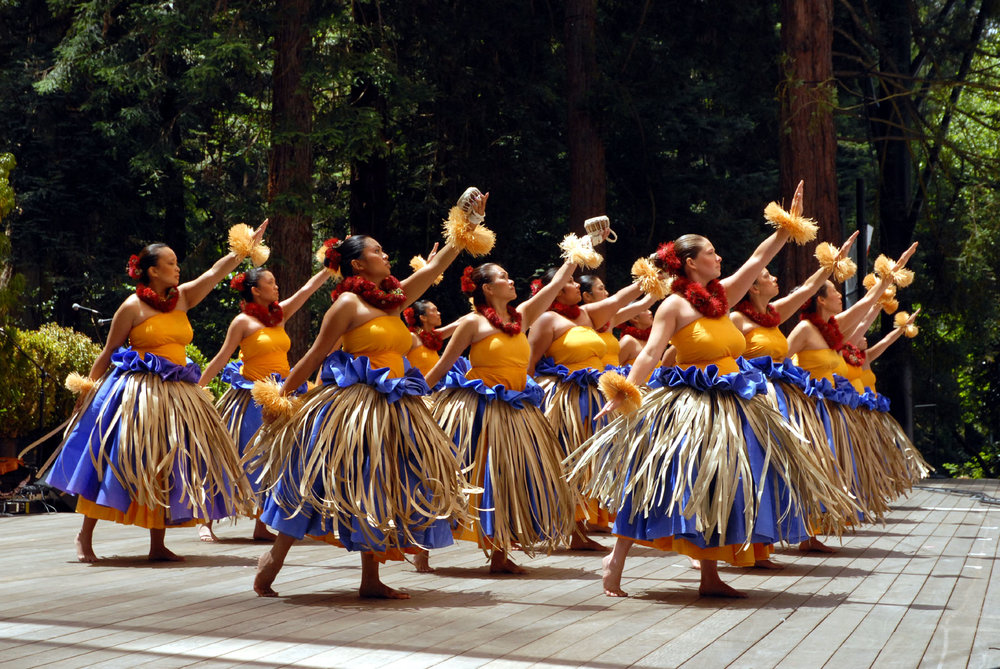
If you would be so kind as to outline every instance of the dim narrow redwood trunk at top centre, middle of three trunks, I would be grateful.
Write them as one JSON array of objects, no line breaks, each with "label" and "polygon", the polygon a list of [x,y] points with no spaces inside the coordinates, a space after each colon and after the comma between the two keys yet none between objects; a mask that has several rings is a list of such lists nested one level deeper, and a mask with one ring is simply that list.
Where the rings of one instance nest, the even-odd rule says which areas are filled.
[{"label": "dim narrow redwood trunk at top centre, middle of three trunks", "polygon": [[596,0],[569,0],[566,3],[569,224],[576,232],[583,232],[584,220],[605,213],[607,196],[604,143],[588,109],[597,79],[596,31]]}]

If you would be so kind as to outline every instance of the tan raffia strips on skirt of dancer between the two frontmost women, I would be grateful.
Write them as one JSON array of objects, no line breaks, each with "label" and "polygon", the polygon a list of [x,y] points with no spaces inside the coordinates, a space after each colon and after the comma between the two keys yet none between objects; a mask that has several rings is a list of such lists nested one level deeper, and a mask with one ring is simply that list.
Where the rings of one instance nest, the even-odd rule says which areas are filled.
[{"label": "tan raffia strips on skirt of dancer between the two frontmost women", "polygon": [[[478,402],[473,390],[444,390],[435,402],[434,417],[445,434],[457,435],[459,461],[470,481],[485,480],[489,470],[494,534],[485,537],[473,516],[479,543],[506,551],[520,545],[529,555],[535,549],[551,553],[572,535],[578,501],[563,478],[555,432],[537,407],[515,409],[493,401],[486,404],[479,438],[472,443]],[[481,494],[474,495],[473,508],[482,509],[481,500]]]}]

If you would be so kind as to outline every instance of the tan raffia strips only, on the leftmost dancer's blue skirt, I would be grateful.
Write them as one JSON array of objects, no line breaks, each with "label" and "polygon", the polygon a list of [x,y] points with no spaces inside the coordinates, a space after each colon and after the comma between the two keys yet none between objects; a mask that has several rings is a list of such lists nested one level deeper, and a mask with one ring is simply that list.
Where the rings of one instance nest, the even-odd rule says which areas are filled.
[{"label": "tan raffia strips only, on the leftmost dancer's blue skirt", "polygon": [[[121,404],[98,421],[109,425],[102,444],[119,430],[119,455],[112,462],[108,449],[92,454],[99,476],[110,468],[140,506],[169,508],[171,490],[180,487],[195,518],[208,518],[207,503],[219,494],[228,515],[252,513],[253,490],[236,444],[200,386],[149,373],[126,374],[115,383],[123,386]],[[175,463],[179,480],[172,478]]]}]

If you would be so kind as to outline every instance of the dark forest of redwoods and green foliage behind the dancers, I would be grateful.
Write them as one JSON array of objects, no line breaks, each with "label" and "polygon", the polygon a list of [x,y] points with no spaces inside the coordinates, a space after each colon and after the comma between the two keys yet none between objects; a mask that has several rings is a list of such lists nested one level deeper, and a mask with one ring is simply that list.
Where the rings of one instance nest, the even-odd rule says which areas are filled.
[{"label": "dark forest of redwoods and green foliage behind the dancers", "polygon": [[[72,406],[15,345],[43,366],[50,349],[92,351],[42,326],[99,342],[106,326],[73,304],[110,316],[133,290],[126,259],[152,241],[191,277],[230,225],[269,216],[285,295],[334,235],[374,235],[405,275],[476,185],[491,193],[490,259],[519,294],[601,213],[620,238],[603,249],[615,289],[686,232],[732,271],[766,233],[764,205],[803,178],[821,238],[874,230],[862,272],[920,242],[899,297],[923,309],[921,332],[875,363],[880,390],[941,473],[1000,476],[998,10],[0,0],[0,437],[31,439]],[[783,291],[811,251],[775,261]],[[464,264],[429,294],[446,321],[468,308]],[[237,302],[220,288],[192,311],[208,357]],[[322,290],[290,322],[293,355],[328,304]]]}]

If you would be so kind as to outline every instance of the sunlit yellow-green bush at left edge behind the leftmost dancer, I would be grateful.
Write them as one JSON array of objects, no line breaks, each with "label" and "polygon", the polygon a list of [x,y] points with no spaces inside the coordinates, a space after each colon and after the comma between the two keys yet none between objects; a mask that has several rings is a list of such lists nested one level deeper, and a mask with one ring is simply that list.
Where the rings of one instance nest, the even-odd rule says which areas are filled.
[{"label": "sunlit yellow-green bush at left edge behind the leftmost dancer", "polygon": [[[88,374],[101,351],[85,335],[54,323],[10,334],[45,374],[20,351],[0,359],[0,378],[4,379],[0,437],[5,438],[24,436],[39,427],[51,429],[69,417],[76,396],[63,387],[63,381],[70,372]],[[40,406],[42,393],[44,407]]]}]

